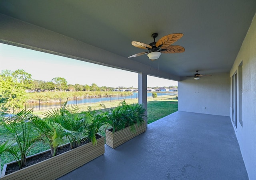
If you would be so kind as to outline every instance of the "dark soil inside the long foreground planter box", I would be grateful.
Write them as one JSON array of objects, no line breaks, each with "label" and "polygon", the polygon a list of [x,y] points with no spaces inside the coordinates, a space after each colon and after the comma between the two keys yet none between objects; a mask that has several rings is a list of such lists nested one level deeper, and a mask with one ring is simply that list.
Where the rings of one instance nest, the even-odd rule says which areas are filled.
[{"label": "dark soil inside the long foreground planter box", "polygon": [[[99,138],[100,138],[100,136],[97,135],[97,136],[96,136],[96,139],[99,139]],[[88,142],[89,142],[89,141],[86,140],[86,141],[82,142],[80,145],[84,145],[84,144],[86,144],[86,143],[88,143]],[[60,155],[60,154],[62,154],[62,153],[65,153],[66,151],[69,151],[69,150],[70,150],[70,144],[65,145],[65,146],[63,146],[63,147],[61,147],[61,148],[58,148],[58,151],[56,152],[56,156],[57,156],[57,155]],[[33,165],[33,164],[36,164],[36,163],[41,162],[41,161],[43,161],[43,160],[49,159],[49,158],[51,158],[51,157],[52,157],[52,156],[51,156],[51,152],[49,151],[49,152],[46,152],[46,153],[43,153],[43,154],[40,154],[40,155],[31,157],[31,158],[27,158],[27,159],[26,159],[26,165],[23,166],[22,168],[31,166],[31,165]],[[15,172],[15,171],[17,171],[17,170],[19,170],[19,169],[20,169],[20,167],[18,166],[18,163],[17,163],[17,162],[16,162],[16,163],[13,163],[13,164],[10,164],[10,165],[8,165],[8,166],[6,167],[5,175],[10,174],[10,173],[12,173],[12,172]]]}]

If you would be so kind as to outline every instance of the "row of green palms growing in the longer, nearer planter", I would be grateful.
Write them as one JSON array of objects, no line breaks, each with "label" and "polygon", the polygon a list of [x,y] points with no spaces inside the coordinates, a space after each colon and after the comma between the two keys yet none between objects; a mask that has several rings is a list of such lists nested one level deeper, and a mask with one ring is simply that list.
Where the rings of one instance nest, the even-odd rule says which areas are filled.
[{"label": "row of green palms growing in the longer, nearer planter", "polygon": [[43,115],[40,118],[27,109],[17,114],[0,112],[0,127],[6,130],[1,131],[0,135],[5,133],[10,137],[6,142],[1,141],[0,155],[10,153],[22,168],[35,143],[43,141],[48,144],[52,156],[66,140],[70,142],[71,149],[86,139],[96,145],[96,135],[105,124],[104,113],[91,109],[80,112],[78,106],[67,105],[67,102],[61,108],[54,108]]}]

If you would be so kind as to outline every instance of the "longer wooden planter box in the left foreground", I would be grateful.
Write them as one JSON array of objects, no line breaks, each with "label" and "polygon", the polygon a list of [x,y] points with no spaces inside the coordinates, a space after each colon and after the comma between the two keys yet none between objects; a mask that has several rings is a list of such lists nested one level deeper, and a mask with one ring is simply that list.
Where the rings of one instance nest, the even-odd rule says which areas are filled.
[{"label": "longer wooden planter box in the left foreground", "polygon": [[[17,179],[56,179],[68,172],[86,164],[87,162],[99,157],[105,153],[104,137],[97,139],[97,145],[93,146],[92,142],[38,162],[31,166],[22,168],[16,172],[4,175],[8,164],[4,164],[1,180]],[[35,155],[33,155],[35,156]],[[29,158],[29,157],[28,157]]]}]

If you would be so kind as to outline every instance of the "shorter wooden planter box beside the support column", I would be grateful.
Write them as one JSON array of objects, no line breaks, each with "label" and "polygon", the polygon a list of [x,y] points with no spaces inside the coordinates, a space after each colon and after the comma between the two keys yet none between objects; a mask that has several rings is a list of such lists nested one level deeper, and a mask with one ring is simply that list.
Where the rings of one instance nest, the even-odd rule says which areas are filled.
[{"label": "shorter wooden planter box beside the support column", "polygon": [[129,141],[130,139],[134,138],[135,136],[143,133],[146,131],[146,123],[144,122],[143,125],[139,126],[137,124],[135,126],[135,133],[131,132],[130,126],[126,127],[120,131],[116,131],[112,133],[110,129],[106,130],[106,145],[115,149],[119,145]]}]

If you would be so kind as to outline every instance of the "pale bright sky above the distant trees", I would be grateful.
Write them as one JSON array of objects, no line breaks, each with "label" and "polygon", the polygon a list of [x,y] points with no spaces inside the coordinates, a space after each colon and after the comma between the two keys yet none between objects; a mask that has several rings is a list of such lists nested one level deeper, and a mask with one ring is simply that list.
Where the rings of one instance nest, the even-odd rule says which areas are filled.
[{"label": "pale bright sky above the distant trees", "polygon": [[[138,73],[0,43],[0,71],[23,69],[36,80],[65,78],[68,84],[138,87]],[[148,87],[177,86],[178,82],[148,76]]]}]

